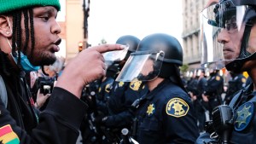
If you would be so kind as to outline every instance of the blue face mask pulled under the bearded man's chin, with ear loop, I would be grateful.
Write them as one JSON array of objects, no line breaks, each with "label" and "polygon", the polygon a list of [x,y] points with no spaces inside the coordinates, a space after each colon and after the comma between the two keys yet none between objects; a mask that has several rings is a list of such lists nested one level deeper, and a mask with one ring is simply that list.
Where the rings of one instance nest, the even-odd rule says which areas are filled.
[{"label": "blue face mask pulled under the bearded man's chin, with ear loop", "polygon": [[[8,24],[9,24],[9,28],[10,28],[10,31],[11,33],[13,33],[12,31],[12,27],[10,25],[10,22],[9,22],[9,17],[7,17],[7,20],[8,20]],[[7,42],[9,43],[9,40],[8,38],[6,37],[6,40]],[[16,44],[16,43],[15,43]],[[16,44],[17,46],[17,44]],[[13,47],[11,46],[11,44],[9,43],[9,47],[10,49],[13,49]],[[17,55],[18,55],[18,51],[16,51]],[[11,54],[12,55],[12,54]],[[18,57],[15,57],[13,56],[13,59],[15,60],[15,63],[17,64],[18,63]],[[22,69],[25,71],[25,72],[32,72],[32,71],[38,71],[40,69],[40,66],[33,66],[30,61],[27,59],[26,55],[24,55],[21,51],[20,51],[20,66],[22,67]]]}]

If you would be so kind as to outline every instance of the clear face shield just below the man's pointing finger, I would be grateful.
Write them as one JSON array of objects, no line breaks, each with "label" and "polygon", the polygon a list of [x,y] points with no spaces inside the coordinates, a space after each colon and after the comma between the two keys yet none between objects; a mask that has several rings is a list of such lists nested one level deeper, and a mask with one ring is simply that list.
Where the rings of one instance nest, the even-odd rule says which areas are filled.
[{"label": "clear face shield just below the man's pointing finger", "polygon": [[114,62],[119,62],[121,60],[124,60],[125,55],[128,52],[128,49],[129,49],[129,45],[126,45],[125,49],[123,50],[114,50],[114,51],[109,51],[102,54],[107,68],[111,66]]}]

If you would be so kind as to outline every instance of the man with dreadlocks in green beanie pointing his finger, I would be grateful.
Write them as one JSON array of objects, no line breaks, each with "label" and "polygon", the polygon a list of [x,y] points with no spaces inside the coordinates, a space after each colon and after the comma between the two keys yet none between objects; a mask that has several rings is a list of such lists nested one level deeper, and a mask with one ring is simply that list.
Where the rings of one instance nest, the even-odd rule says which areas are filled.
[{"label": "man with dreadlocks in green beanie pointing his finger", "polygon": [[87,105],[84,85],[105,75],[101,53],[124,49],[104,44],[85,49],[62,72],[48,106],[37,112],[25,72],[55,62],[61,38],[55,18],[59,0],[0,0],[0,141],[71,144],[77,141]]}]

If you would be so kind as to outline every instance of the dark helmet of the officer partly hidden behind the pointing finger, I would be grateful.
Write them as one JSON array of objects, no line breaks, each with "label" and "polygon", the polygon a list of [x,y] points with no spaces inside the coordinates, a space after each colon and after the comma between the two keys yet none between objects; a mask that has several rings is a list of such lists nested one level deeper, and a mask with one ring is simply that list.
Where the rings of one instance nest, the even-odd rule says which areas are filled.
[{"label": "dark helmet of the officer partly hidden behind the pointing finger", "polygon": [[119,37],[116,43],[129,46],[128,52],[125,55],[125,60],[127,60],[130,54],[136,51],[138,43],[140,43],[140,39],[135,36],[125,35],[125,36]]}]

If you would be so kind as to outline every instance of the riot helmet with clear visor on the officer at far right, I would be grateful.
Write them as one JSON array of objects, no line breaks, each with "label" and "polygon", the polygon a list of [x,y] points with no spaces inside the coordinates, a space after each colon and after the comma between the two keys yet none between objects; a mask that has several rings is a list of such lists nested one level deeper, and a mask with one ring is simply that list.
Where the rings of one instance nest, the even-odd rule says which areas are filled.
[{"label": "riot helmet with clear visor on the officer at far right", "polygon": [[256,58],[255,9],[256,1],[220,0],[201,12],[202,66],[240,72]]}]

